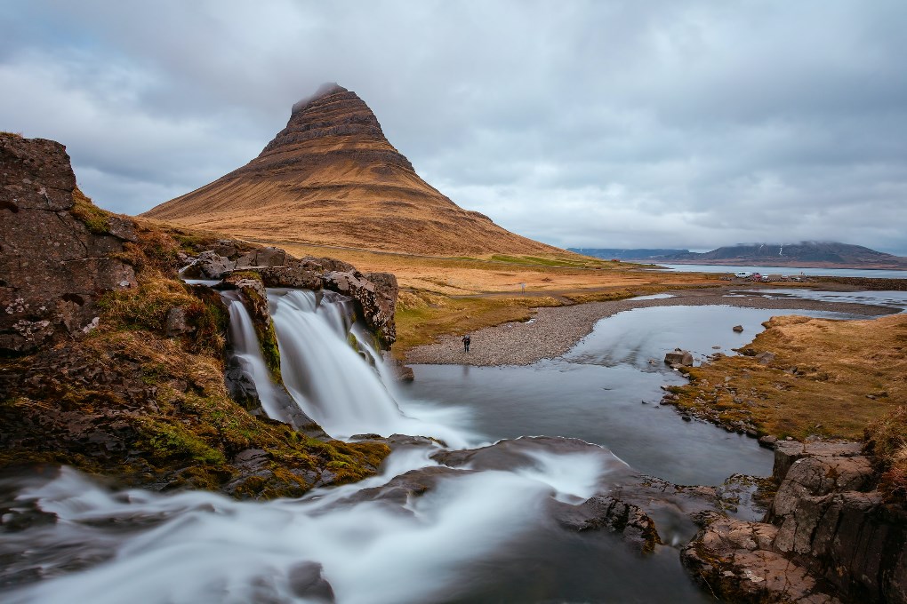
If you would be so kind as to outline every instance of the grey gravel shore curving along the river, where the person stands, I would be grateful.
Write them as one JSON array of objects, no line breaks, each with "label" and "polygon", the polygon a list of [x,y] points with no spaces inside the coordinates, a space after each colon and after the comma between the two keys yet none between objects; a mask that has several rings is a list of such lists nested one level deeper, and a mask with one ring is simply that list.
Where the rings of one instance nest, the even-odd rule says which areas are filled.
[{"label": "grey gravel shore curving along the river, where the person stands", "polygon": [[[741,297],[727,297],[727,293],[745,293]],[[472,345],[468,354],[463,352],[460,338],[463,334],[442,336],[438,341],[418,346],[405,353],[406,364],[413,365],[531,365],[542,359],[551,359],[570,350],[586,337],[597,321],[618,312],[650,306],[699,306],[720,305],[740,308],[784,309],[805,311],[844,312],[863,315],[867,319],[897,312],[871,304],[853,302],[820,302],[803,298],[769,299],[749,292],[740,286],[722,286],[702,290],[677,290],[665,292],[670,298],[657,300],[618,300],[612,302],[586,302],[572,306],[538,308],[532,320],[511,322],[487,327],[470,333]]]}]

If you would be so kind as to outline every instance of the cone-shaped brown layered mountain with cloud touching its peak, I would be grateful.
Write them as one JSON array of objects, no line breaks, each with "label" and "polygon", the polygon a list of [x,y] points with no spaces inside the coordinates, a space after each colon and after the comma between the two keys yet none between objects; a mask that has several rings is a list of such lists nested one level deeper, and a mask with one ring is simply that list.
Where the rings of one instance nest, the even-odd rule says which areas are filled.
[{"label": "cone-shaped brown layered mountain with cloud touching its peak", "polygon": [[324,84],[247,165],[143,216],[269,242],[411,254],[563,254],[464,210],[385,139],[355,92]]}]

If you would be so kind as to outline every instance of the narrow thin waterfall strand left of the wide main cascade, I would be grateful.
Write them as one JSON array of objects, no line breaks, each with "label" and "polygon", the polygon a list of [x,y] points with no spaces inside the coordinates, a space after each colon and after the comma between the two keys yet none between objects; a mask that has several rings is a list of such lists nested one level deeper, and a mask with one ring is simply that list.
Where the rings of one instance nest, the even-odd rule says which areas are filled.
[{"label": "narrow thin waterfall strand left of the wide main cascade", "polygon": [[233,345],[233,354],[255,382],[261,408],[268,417],[288,422],[287,413],[278,404],[278,386],[271,380],[271,372],[261,354],[258,335],[255,333],[249,311],[246,310],[245,304],[239,301],[239,294],[236,292],[224,292],[222,295],[229,300],[229,338]]}]

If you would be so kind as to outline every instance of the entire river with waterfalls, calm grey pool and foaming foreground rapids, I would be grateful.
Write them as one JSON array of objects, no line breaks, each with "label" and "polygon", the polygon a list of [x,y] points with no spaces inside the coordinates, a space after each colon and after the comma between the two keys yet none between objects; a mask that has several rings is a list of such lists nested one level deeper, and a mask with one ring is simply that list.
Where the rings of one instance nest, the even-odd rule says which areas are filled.
[{"label": "entire river with waterfalls, calm grey pool and foaming foreground rapids", "polygon": [[[330,434],[434,436],[450,451],[399,448],[381,475],[265,503],[111,490],[69,468],[6,476],[4,523],[23,528],[0,540],[0,599],[707,601],[676,549],[643,555],[618,535],[564,523],[593,494],[639,487],[640,471],[690,484],[767,474],[771,455],[753,440],[658,406],[659,387],[680,382],[659,358],[675,345],[700,359],[730,352],[778,311],[639,309],[600,321],[561,359],[529,368],[417,367],[414,384],[393,396],[348,301],[286,290],[268,291],[268,301],[288,390]],[[278,414],[266,402],[270,381],[249,318],[239,302],[230,313],[234,348],[266,411]],[[730,331],[736,323],[744,335]],[[597,445],[518,438],[541,434]],[[465,448],[475,450],[456,451]],[[442,464],[437,455],[453,457]],[[431,488],[414,496],[420,490],[406,484]],[[658,512],[659,531],[665,542],[685,542],[695,527],[674,507]]]}]

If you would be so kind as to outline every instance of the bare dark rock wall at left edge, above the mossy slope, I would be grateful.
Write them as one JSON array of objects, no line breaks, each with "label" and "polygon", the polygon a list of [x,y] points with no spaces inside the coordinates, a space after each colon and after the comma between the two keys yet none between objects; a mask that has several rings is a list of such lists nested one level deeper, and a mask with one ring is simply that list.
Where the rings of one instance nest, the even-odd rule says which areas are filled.
[{"label": "bare dark rock wall at left edge, above the mossy slope", "polygon": [[92,331],[100,296],[135,287],[111,255],[135,235],[125,219],[95,234],[73,216],[75,176],[57,142],[0,135],[0,170],[0,355],[23,354]]}]

